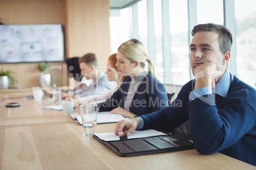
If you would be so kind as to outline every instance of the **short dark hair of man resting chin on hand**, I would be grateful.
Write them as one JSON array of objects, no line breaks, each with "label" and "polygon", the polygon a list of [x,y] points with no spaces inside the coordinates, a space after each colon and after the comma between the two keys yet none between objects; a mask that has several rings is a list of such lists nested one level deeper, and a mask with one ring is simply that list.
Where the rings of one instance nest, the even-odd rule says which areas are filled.
[{"label": "short dark hair of man resting chin on hand", "polygon": [[224,25],[218,25],[215,23],[199,24],[194,27],[191,34],[192,36],[194,36],[197,32],[201,31],[217,32],[220,52],[223,54],[226,51],[231,51],[232,34],[231,31],[227,29],[227,27],[225,27]]}]

